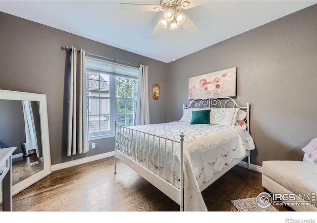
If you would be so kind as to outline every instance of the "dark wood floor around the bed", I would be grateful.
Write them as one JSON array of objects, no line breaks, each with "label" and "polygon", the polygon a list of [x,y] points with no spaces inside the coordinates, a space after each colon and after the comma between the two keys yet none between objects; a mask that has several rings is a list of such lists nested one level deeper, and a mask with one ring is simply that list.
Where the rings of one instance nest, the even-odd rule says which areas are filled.
[{"label": "dark wood floor around the bed", "polygon": [[[236,166],[202,195],[209,211],[237,211],[231,200],[256,197],[260,192],[264,192],[261,173]],[[179,211],[179,206],[120,161],[113,174],[113,158],[106,158],[54,171],[13,196],[12,210]]]}]

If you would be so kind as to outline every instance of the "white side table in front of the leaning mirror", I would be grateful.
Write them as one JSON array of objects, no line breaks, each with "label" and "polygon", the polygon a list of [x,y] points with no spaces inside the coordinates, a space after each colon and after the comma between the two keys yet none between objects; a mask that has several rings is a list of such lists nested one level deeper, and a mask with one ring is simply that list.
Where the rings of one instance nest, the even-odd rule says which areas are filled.
[{"label": "white side table in front of the leaning mirror", "polygon": [[12,153],[16,147],[0,149],[0,182],[2,181],[2,211],[12,211]]}]

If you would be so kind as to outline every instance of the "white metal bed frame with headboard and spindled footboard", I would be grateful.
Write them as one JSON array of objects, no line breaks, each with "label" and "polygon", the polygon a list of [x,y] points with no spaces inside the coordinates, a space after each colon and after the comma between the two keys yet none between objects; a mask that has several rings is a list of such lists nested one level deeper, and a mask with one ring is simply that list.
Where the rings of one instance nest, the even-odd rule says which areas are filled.
[{"label": "white metal bed frame with headboard and spindled footboard", "polygon": [[[231,105],[231,106],[230,106]],[[250,104],[247,103],[246,107],[240,107],[237,105],[237,103],[230,97],[219,97],[219,98],[209,98],[209,99],[193,99],[189,106],[183,105],[183,109],[188,108],[239,108],[241,110],[247,111],[247,117],[245,119],[247,123],[247,131],[250,133]],[[146,164],[140,162],[140,158],[138,158],[136,155],[133,158],[133,156],[130,158],[126,156],[124,153],[122,153],[120,150],[118,150],[118,131],[125,131],[132,134],[132,147],[135,145],[135,149],[133,152],[134,154],[140,154],[141,150],[141,134],[145,138],[147,136],[149,139],[150,137],[158,137],[159,138],[159,144],[162,142],[162,144],[165,143],[165,151],[166,151],[166,142],[169,141],[172,143],[174,149],[174,145],[180,144],[180,169],[179,169],[179,176],[180,176],[180,187],[174,186],[174,178],[172,179],[172,182],[167,181],[163,177],[160,176],[160,174],[157,174],[155,172],[155,167],[153,166],[153,170],[149,169],[149,159],[148,159],[148,167],[145,167]],[[138,136],[139,134],[139,136]],[[115,150],[114,150],[114,173],[116,173],[116,160],[119,159],[123,163],[125,163],[127,166],[131,167],[134,171],[136,171],[139,175],[141,175],[143,178],[145,178],[147,181],[149,181],[151,184],[153,184],[155,187],[157,187],[160,191],[162,191],[166,196],[171,198],[173,201],[175,201],[178,205],[180,205],[180,211],[184,211],[184,172],[183,172],[183,149],[184,149],[184,134],[180,133],[180,141],[170,140],[164,137],[160,137],[154,134],[150,134],[147,132],[138,131],[135,129],[131,129],[129,127],[124,127],[121,125],[118,125],[115,121]],[[135,137],[135,142],[134,142]],[[137,138],[139,137],[139,138]],[[139,139],[139,144],[136,146],[137,139]],[[145,142],[145,141],[143,141]],[[135,144],[134,144],[135,143]],[[130,141],[128,142],[128,146],[130,147]],[[143,145],[144,150],[145,145]],[[160,146],[159,146],[160,148]],[[176,147],[177,148],[177,147]],[[139,149],[139,151],[137,151]],[[143,151],[144,152],[144,151]],[[219,172],[216,172],[213,174],[211,180],[209,182],[204,182],[202,186],[200,187],[201,192],[205,190],[207,187],[209,187],[214,181],[216,181],[219,177],[221,177],[224,173],[226,173],[228,170],[230,170],[232,167],[236,166],[240,161],[248,157],[248,169],[250,170],[250,151],[246,151],[246,156],[244,156],[241,159],[234,159],[230,165],[225,165],[223,169]],[[144,154],[144,153],[143,153]],[[173,154],[173,152],[172,152]],[[148,153],[149,156],[149,153]],[[154,154],[153,154],[154,158]],[[154,162],[153,162],[154,165]],[[173,164],[172,164],[173,165]],[[166,152],[165,152],[165,167],[166,167]],[[166,168],[165,168],[166,169]],[[166,171],[166,170],[165,170]],[[174,171],[174,170],[173,170]],[[166,172],[165,172],[166,177]]]}]

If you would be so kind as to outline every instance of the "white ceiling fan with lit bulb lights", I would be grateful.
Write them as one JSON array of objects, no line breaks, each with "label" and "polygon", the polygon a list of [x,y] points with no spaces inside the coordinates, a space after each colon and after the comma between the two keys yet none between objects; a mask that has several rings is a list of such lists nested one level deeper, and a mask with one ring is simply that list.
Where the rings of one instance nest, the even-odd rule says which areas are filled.
[{"label": "white ceiling fan with lit bulb lights", "polygon": [[159,33],[167,28],[168,23],[169,29],[176,29],[178,26],[183,26],[189,33],[195,34],[200,28],[180,11],[182,9],[190,9],[198,5],[204,4],[204,1],[187,1],[187,0],[161,0],[160,5],[152,4],[132,4],[132,3],[120,3],[121,10],[135,10],[135,11],[156,11],[163,12],[163,17],[159,19],[158,24],[152,31],[150,38],[155,38]]}]

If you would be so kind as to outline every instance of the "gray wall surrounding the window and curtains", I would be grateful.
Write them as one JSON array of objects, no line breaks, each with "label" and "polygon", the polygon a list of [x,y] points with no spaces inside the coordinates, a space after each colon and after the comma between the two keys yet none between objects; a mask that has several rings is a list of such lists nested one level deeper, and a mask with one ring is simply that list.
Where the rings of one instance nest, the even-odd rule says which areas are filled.
[{"label": "gray wall surrounding the window and curtains", "polygon": [[114,150],[114,138],[107,138],[94,141],[96,149],[86,154],[66,156],[70,54],[61,50],[65,45],[148,65],[149,95],[153,84],[161,89],[159,100],[149,99],[150,121],[166,121],[166,63],[0,12],[0,89],[47,95],[52,165]]}]

